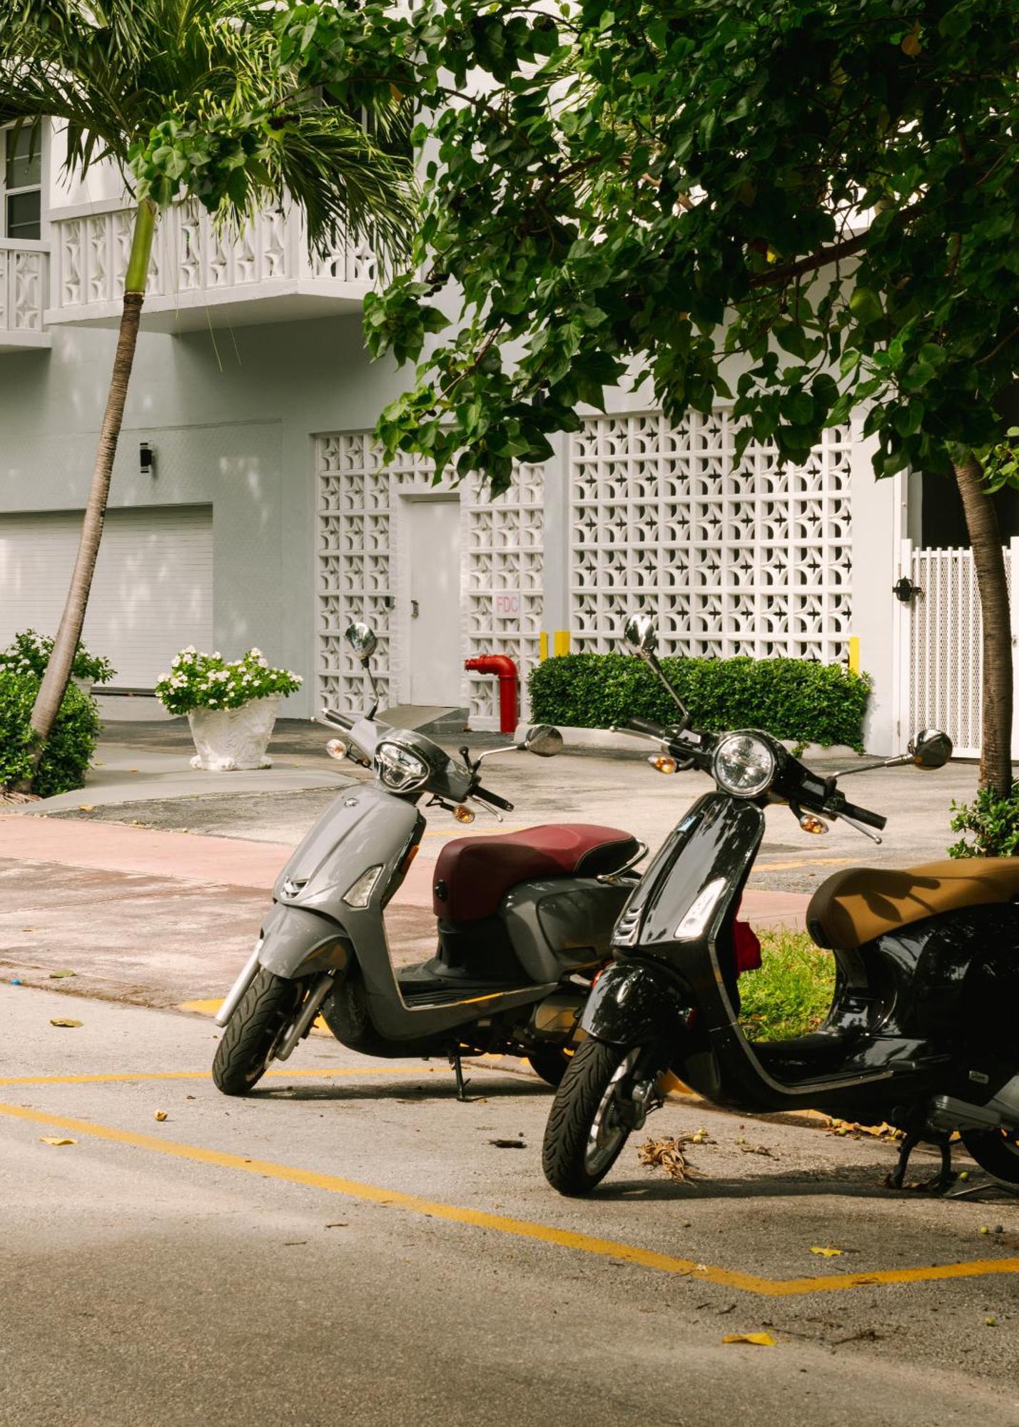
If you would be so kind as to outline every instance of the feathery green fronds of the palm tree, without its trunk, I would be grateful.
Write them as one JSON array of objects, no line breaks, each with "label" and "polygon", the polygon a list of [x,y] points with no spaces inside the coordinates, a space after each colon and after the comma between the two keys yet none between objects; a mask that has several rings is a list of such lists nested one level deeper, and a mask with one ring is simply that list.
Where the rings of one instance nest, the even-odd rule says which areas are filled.
[{"label": "feathery green fronds of the palm tree, without its trunk", "polygon": [[[375,94],[370,127],[321,93],[294,93],[263,0],[4,0],[0,113],[66,127],[66,168],[131,157],[153,134],[217,131],[251,147],[244,184],[196,193],[234,225],[295,203],[324,254],[344,235],[380,258],[405,253],[412,220],[408,106]],[[170,190],[167,190],[170,191]]]}]

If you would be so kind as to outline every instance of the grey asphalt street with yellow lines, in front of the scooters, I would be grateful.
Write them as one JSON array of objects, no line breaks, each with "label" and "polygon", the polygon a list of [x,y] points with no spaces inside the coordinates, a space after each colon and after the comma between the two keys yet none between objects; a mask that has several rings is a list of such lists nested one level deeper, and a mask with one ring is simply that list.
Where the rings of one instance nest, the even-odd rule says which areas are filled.
[{"label": "grey asphalt street with yellow lines, in front of the scooters", "polygon": [[207,1020],[0,1015],[4,1424],[1019,1423],[1015,1203],[892,1193],[879,1140],[671,1100],[691,1184],[631,1143],[564,1200],[500,1065],[464,1104],[314,1036],[227,1100]]}]

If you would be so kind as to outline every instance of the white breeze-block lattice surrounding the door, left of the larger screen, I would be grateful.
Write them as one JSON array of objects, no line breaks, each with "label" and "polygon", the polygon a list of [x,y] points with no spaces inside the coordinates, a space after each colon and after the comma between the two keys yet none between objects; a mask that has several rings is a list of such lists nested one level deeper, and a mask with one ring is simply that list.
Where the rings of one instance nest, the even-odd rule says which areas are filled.
[{"label": "white breeze-block lattice surrounding the door, left of the larger screen", "polygon": [[[318,695],[320,704],[361,708],[368,681],[348,654],[344,629],[367,621],[378,635],[377,671],[382,701],[400,699],[405,651],[395,646],[392,605],[405,579],[400,569],[401,495],[450,494],[434,484],[422,457],[398,454],[382,465],[370,432],[320,437],[318,482]],[[508,654],[521,675],[538,659],[542,616],[544,472],[521,467],[505,495],[490,501],[478,477],[460,487],[464,658]],[[498,681],[464,675],[464,699],[475,728],[498,728]]]}]

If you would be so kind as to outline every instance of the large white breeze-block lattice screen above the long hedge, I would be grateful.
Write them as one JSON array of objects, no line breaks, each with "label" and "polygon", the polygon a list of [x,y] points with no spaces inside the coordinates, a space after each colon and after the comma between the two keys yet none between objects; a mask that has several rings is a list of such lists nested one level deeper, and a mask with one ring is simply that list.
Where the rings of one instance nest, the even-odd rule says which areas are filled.
[{"label": "large white breeze-block lattice screen above the long hedge", "polygon": [[728,411],[594,417],[569,442],[571,624],[578,651],[619,648],[632,611],[664,654],[842,659],[851,619],[851,437],[802,467]]}]

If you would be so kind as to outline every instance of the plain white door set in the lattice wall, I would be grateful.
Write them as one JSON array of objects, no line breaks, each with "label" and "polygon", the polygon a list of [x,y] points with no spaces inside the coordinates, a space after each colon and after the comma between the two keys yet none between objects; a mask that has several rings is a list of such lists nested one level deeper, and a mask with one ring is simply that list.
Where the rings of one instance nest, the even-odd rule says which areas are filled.
[{"label": "plain white door set in the lattice wall", "polygon": [[407,501],[411,704],[460,706],[460,499]]}]

